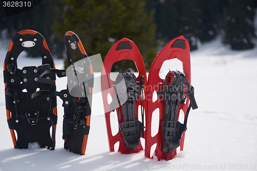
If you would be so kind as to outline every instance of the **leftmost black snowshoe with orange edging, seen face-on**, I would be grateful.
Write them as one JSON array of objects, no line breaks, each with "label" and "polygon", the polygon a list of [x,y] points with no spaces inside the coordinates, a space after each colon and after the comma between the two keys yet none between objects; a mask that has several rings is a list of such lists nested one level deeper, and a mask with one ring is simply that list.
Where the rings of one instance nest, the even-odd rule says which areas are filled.
[{"label": "leftmost black snowshoe with orange edging, seen face-on", "polygon": [[[41,66],[18,68],[17,58],[26,49],[41,55]],[[4,82],[7,121],[14,148],[28,148],[32,143],[51,150],[55,147],[56,74],[47,72],[53,68],[52,55],[39,32],[23,30],[13,36],[4,63]],[[65,70],[59,70],[58,75],[65,76]]]}]

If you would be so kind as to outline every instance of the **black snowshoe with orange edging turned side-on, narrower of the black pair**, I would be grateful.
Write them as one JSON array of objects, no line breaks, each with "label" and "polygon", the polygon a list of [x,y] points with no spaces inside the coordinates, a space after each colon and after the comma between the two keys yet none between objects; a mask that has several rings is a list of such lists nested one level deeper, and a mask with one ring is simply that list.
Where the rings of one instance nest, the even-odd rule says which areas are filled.
[{"label": "black snowshoe with orange edging turned side-on, narrower of the black pair", "polygon": [[[90,128],[94,72],[77,34],[72,31],[66,32],[64,42],[68,60],[67,90],[62,90],[60,94],[64,106],[64,148],[85,155]],[[72,60],[75,51],[82,59],[76,63]]]}]

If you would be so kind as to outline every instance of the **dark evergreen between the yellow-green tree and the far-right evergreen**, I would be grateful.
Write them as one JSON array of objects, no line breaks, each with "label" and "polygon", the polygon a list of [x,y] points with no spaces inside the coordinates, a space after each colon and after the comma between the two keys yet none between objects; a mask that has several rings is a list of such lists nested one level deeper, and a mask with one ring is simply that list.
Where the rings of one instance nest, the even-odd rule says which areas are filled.
[{"label": "dark evergreen between the yellow-green tree and the far-right evergreen", "polygon": [[215,0],[149,0],[148,8],[156,8],[157,38],[164,43],[183,35],[194,50],[197,42],[213,40],[218,33]]}]

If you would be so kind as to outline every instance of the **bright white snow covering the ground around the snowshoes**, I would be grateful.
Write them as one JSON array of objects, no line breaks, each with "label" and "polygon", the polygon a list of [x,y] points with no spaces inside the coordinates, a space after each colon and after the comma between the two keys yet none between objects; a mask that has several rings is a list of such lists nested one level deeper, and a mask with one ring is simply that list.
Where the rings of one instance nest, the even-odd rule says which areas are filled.
[{"label": "bright white snow covering the ground around the snowshoes", "polygon": [[[0,49],[4,63],[8,47]],[[86,155],[63,148],[62,100],[58,98],[56,149],[14,149],[6,121],[3,72],[0,72],[0,170],[257,170],[257,48],[232,51],[221,39],[203,44],[191,53],[191,84],[195,88],[198,109],[188,118],[183,151],[170,161],[144,157],[144,151],[122,155],[109,152],[101,93],[94,94]],[[40,65],[40,59],[19,57],[20,66]],[[3,63],[0,69],[3,70]],[[55,60],[63,68],[62,60]],[[163,68],[170,68],[167,63]],[[173,65],[174,66],[174,65]],[[174,66],[176,67],[176,66]],[[180,66],[177,66],[180,67]],[[167,72],[161,72],[165,77]],[[100,73],[96,73],[99,76]],[[57,89],[66,87],[66,79],[57,79]],[[112,116],[112,123],[117,118]],[[144,141],[142,140],[142,144]],[[144,145],[143,145],[144,146]]]}]

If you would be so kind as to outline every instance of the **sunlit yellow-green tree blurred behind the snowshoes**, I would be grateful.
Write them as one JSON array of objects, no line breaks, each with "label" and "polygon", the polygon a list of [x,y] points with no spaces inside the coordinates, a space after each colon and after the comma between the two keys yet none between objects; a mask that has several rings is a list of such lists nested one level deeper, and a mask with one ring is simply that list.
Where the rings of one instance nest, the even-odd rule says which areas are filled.
[{"label": "sunlit yellow-green tree blurred behind the snowshoes", "polygon": [[[144,0],[61,0],[59,20],[52,28],[63,40],[66,31],[74,31],[81,39],[88,55],[101,53],[104,59],[112,45],[127,37],[135,42],[149,68],[157,54],[154,10],[145,11]],[[119,68],[126,64],[120,64]],[[132,66],[126,66],[132,67]]]}]

